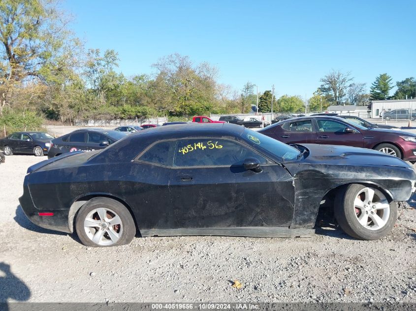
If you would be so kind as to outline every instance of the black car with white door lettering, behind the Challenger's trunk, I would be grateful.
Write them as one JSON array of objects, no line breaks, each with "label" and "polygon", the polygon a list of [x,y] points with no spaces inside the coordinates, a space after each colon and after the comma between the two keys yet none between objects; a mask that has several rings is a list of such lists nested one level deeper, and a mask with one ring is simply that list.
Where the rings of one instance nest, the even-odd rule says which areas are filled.
[{"label": "black car with white door lettering, behind the Challenger's trunk", "polygon": [[54,139],[49,148],[48,158],[73,151],[94,151],[125,138],[127,134],[114,130],[81,129]]}]

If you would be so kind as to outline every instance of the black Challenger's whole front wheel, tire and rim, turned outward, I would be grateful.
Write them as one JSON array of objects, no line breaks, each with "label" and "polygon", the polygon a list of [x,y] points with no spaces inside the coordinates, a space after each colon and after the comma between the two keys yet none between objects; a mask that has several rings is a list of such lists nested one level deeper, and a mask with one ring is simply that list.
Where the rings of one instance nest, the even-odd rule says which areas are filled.
[{"label": "black Challenger's whole front wheel, tire and rim, turned outward", "polygon": [[[367,200],[371,203],[365,204]],[[352,184],[338,192],[334,215],[338,225],[353,238],[378,240],[393,229],[397,205],[377,188]]]}]

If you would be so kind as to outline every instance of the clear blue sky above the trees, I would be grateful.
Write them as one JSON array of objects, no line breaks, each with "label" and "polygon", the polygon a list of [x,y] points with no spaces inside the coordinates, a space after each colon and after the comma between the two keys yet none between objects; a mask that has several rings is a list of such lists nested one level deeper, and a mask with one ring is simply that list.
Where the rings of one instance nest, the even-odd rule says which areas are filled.
[{"label": "clear blue sky above the trees", "polygon": [[[207,61],[241,90],[310,97],[332,70],[367,88],[416,77],[416,0],[64,0],[85,47],[119,53],[120,72],[154,74],[173,53]],[[394,92],[394,89],[392,90]]]}]

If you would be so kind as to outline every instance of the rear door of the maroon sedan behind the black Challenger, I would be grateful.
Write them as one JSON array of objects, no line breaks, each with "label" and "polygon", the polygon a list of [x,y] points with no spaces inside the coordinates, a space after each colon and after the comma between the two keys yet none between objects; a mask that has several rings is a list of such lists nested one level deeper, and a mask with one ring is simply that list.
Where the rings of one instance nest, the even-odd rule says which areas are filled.
[{"label": "rear door of the maroon sedan behind the black Challenger", "polygon": [[288,121],[275,129],[278,141],[285,143],[317,143],[317,134],[311,119]]}]

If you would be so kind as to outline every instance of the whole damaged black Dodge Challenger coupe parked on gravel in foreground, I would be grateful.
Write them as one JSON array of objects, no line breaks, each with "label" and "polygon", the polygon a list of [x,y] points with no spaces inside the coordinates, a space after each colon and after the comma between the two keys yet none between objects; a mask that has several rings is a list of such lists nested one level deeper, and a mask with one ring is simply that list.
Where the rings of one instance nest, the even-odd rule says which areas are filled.
[{"label": "whole damaged black Dodge Challenger coupe parked on gravel in foreground", "polygon": [[140,131],[103,150],[28,169],[21,206],[36,225],[89,246],[139,236],[308,236],[320,205],[352,237],[387,235],[416,174],[379,151],[287,145],[227,123]]}]

